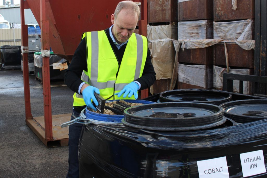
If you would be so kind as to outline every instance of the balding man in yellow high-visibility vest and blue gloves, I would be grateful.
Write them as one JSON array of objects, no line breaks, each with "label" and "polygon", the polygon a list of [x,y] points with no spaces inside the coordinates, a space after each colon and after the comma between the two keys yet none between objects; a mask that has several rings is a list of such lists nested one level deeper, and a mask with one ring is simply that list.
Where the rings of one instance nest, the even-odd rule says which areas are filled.
[{"label": "balding man in yellow high-visibility vest and blue gloves", "polygon": [[[86,106],[96,110],[92,104],[98,105],[94,93],[106,100],[137,99],[138,90],[148,88],[156,80],[147,39],[133,33],[139,14],[138,5],[122,1],[111,15],[111,27],[83,34],[64,76],[65,84],[76,92],[71,120]],[[67,177],[79,177],[81,129],[81,124],[69,127]]]}]

